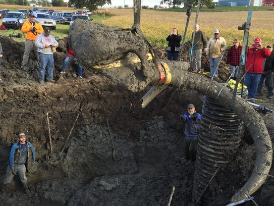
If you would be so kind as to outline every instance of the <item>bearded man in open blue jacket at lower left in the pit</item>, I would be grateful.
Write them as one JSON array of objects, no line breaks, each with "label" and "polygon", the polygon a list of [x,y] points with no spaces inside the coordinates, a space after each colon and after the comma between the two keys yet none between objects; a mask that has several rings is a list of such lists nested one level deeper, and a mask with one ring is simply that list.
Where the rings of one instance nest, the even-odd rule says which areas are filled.
[{"label": "bearded man in open blue jacket at lower left in the pit", "polygon": [[20,177],[23,186],[26,188],[28,181],[26,176],[27,169],[35,162],[35,151],[32,144],[26,141],[26,135],[20,133],[18,142],[16,142],[10,151],[9,165],[7,167],[6,177],[4,179],[4,189],[12,181],[15,175]]}]

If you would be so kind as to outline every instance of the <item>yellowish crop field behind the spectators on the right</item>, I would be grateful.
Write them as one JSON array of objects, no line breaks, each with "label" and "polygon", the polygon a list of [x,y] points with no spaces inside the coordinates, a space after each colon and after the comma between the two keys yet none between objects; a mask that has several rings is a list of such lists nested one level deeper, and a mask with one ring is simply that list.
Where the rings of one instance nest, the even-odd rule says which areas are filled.
[{"label": "yellowish crop field behind the spectators on the right", "polygon": [[[105,20],[104,24],[109,26],[131,27],[133,25],[133,9],[108,9],[109,13],[115,14]],[[234,38],[243,39],[244,31],[238,30],[247,20],[247,11],[242,12],[200,12],[198,24],[207,37],[212,37],[214,29],[219,29],[220,34],[227,41],[228,47],[233,45]],[[195,22],[196,11],[190,16],[187,29],[186,41],[191,39]],[[262,45],[274,43],[272,32],[274,31],[273,11],[253,11],[251,28],[249,33],[249,44],[253,39],[260,37]],[[141,10],[141,29],[152,45],[167,46],[166,38],[173,27],[179,29],[179,34],[184,35],[187,15],[185,12],[163,12],[157,10]]]}]

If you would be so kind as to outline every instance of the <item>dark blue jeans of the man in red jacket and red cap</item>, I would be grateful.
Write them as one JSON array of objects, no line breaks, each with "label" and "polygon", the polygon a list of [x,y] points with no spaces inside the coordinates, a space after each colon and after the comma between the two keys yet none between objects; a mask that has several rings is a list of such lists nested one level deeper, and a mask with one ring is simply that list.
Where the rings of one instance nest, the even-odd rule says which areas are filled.
[{"label": "dark blue jeans of the man in red jacket and red cap", "polygon": [[260,78],[261,78],[261,74],[256,74],[256,73],[245,74],[244,85],[247,86],[248,98],[255,98],[255,94],[257,93]]}]

